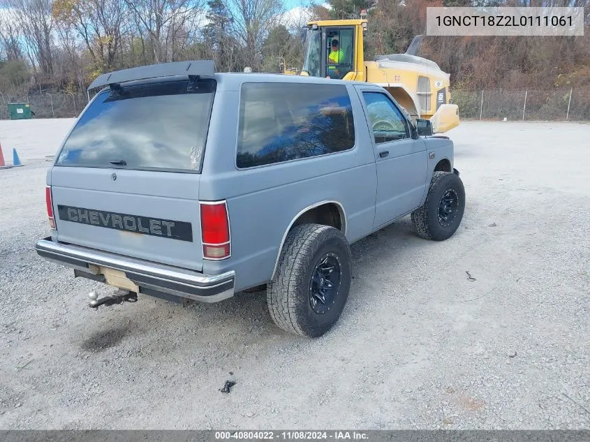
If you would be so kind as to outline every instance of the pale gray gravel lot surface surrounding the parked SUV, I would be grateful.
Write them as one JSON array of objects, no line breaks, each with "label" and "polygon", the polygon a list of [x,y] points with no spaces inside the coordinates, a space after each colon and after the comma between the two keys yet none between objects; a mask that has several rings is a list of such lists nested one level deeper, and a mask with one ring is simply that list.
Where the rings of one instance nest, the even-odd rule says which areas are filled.
[{"label": "pale gray gravel lot surface surrounding the parked SUV", "polygon": [[457,234],[421,240],[406,218],[354,244],[344,314],[307,340],[260,293],[89,309],[111,290],[34,252],[49,231],[34,159],[69,121],[0,121],[5,156],[18,142],[28,160],[0,170],[0,428],[590,427],[590,125],[451,131]]}]

